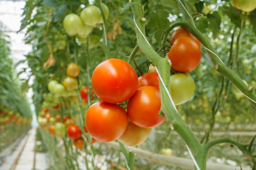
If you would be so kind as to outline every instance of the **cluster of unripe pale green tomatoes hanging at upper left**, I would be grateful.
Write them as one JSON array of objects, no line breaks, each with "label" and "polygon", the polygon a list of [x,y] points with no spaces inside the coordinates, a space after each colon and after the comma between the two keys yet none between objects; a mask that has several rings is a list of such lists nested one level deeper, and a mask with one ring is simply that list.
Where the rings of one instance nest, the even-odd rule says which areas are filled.
[{"label": "cluster of unripe pale green tomatoes hanging at upper left", "polygon": [[[109,14],[107,5],[101,3],[101,8],[107,19]],[[63,26],[68,35],[76,35],[81,43],[86,43],[87,36],[92,32],[93,28],[100,23],[103,23],[100,9],[95,5],[90,5],[82,10],[80,16],[68,14],[63,21]]]}]

